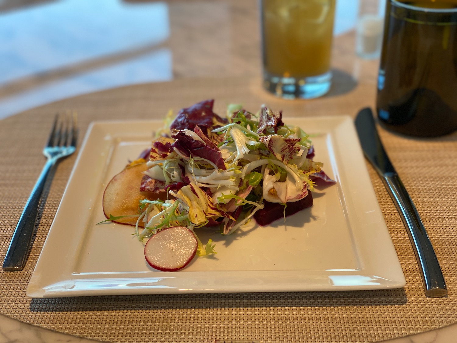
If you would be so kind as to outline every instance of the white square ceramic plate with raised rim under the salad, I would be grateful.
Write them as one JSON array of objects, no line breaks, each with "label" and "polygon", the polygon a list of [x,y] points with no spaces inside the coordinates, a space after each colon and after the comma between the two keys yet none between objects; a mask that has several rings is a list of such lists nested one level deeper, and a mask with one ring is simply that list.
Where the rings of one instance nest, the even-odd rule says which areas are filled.
[{"label": "white square ceramic plate with raised rim under the salad", "polygon": [[158,293],[400,288],[405,279],[348,116],[284,118],[312,135],[315,161],[337,181],[314,205],[231,236],[197,229],[218,254],[177,272],[149,267],[132,226],[107,223],[106,184],[151,144],[159,121],[97,122],[86,134],[27,288],[32,298]]}]

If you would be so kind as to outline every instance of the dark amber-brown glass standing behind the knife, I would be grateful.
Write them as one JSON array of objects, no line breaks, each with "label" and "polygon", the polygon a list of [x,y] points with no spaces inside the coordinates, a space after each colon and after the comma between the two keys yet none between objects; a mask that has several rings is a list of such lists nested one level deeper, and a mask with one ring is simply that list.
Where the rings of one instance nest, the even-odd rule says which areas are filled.
[{"label": "dark amber-brown glass standing behind the knife", "polygon": [[384,127],[418,137],[457,129],[457,0],[388,0],[378,75]]}]

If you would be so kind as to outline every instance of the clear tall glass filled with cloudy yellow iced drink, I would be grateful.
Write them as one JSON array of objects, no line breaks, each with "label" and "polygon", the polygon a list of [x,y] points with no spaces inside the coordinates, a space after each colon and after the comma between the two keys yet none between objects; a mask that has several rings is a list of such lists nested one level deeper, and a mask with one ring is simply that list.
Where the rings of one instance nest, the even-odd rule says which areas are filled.
[{"label": "clear tall glass filled with cloudy yellow iced drink", "polygon": [[283,98],[330,89],[335,0],[261,0],[263,82]]}]

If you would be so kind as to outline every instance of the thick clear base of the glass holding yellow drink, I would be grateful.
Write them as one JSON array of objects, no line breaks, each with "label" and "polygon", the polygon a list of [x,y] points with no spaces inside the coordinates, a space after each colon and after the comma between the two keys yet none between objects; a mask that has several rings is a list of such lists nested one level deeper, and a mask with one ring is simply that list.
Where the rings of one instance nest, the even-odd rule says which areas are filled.
[{"label": "thick clear base of the glass holding yellow drink", "polygon": [[330,89],[332,72],[303,78],[278,77],[264,71],[263,86],[284,99],[313,99],[323,96]]}]

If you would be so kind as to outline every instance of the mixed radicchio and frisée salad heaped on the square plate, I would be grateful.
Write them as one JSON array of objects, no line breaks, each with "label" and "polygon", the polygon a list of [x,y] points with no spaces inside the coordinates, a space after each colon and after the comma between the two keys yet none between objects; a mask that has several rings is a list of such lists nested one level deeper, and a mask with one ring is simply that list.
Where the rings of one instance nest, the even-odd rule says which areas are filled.
[{"label": "mixed radicchio and fris\u00e9e salad heaped on the square plate", "polygon": [[[312,206],[316,180],[335,182],[313,161],[308,134],[262,106],[250,113],[213,100],[169,113],[151,149],[106,186],[107,220],[135,227],[147,262],[164,271],[217,253],[198,230],[230,235],[251,220],[268,225]],[[101,223],[103,223],[101,222]]]}]

